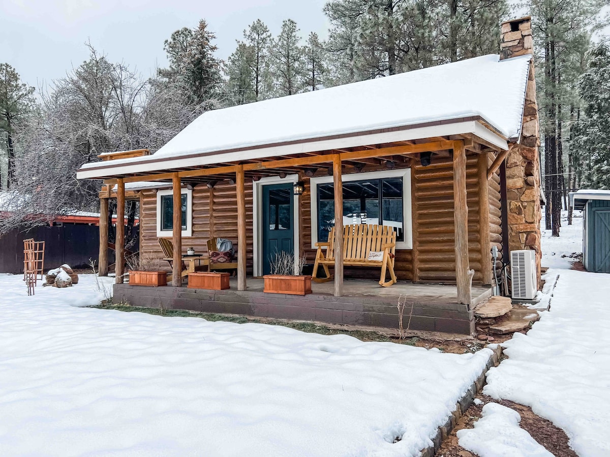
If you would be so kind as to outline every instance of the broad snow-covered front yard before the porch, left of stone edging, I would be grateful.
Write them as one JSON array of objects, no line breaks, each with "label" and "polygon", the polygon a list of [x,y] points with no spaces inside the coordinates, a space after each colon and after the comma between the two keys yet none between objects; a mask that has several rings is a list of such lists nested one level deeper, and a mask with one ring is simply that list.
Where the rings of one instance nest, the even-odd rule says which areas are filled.
[{"label": "broad snow-covered front yard before the porch, left of stone edging", "polygon": [[0,276],[0,455],[417,455],[490,355],[70,306],[94,279]]}]

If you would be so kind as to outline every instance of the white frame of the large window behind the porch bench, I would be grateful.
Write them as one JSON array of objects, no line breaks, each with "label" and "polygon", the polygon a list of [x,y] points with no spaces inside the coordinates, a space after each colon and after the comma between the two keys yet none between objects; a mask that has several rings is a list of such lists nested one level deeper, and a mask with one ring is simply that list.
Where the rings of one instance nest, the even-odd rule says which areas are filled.
[{"label": "white frame of the large window behind the porch bench", "polygon": [[[369,171],[341,175],[342,182],[361,181],[365,179],[382,179],[401,177],[403,179],[403,218],[404,241],[397,241],[396,249],[413,249],[413,227],[411,214],[411,168],[398,170]],[[318,184],[331,183],[332,176],[310,179],[311,192],[311,247],[317,249],[318,242]],[[326,239],[322,240],[326,241]]]}]

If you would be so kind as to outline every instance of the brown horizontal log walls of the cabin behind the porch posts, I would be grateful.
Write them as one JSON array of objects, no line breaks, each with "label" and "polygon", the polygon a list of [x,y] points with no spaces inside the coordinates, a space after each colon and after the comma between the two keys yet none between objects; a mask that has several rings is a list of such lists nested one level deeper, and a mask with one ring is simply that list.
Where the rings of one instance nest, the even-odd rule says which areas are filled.
[{"label": "brown horizontal log walls of the cabin behind the porch posts", "polygon": [[[475,270],[474,282],[481,282],[481,249],[478,223],[477,158],[467,155],[468,250],[470,268]],[[409,166],[409,163],[403,164]],[[367,167],[366,171],[385,169]],[[434,157],[426,167],[414,161],[412,166],[412,228],[414,249],[397,250],[395,272],[399,280],[414,282],[454,283],[455,252],[453,222],[453,161],[451,157]],[[351,169],[344,167],[343,172]],[[322,175],[318,172],[317,175]],[[300,247],[308,263],[314,263],[315,249],[311,248],[310,185],[309,178],[301,176],[305,192],[300,196]],[[501,248],[500,185],[498,175],[489,180],[490,238]],[[162,258],[156,230],[157,196],[143,191],[140,197],[141,252],[151,258]],[[210,211],[210,208],[212,210]],[[246,227],[248,274],[253,269],[253,190],[246,182]],[[235,186],[218,183],[212,190],[199,185],[193,190],[193,236],[185,238],[182,250],[194,247],[206,252],[206,242],[212,236],[231,239],[237,249],[237,196]],[[167,262],[159,263],[167,268]],[[377,271],[377,269],[376,269]],[[346,267],[346,278],[368,278],[370,269]]]}]

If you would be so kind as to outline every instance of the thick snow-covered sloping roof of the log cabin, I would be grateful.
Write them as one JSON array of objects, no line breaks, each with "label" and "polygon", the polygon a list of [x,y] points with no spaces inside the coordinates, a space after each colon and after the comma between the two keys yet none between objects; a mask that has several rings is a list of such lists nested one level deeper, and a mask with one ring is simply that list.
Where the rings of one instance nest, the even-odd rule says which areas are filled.
[{"label": "thick snow-covered sloping roof of the log cabin", "polygon": [[[415,127],[431,124],[438,127],[436,135],[472,133],[473,122],[468,124],[464,120],[475,118],[482,119],[490,130],[495,129],[493,135],[504,141],[505,149],[505,139],[518,138],[520,134],[530,58],[530,55],[522,55],[500,60],[495,54],[484,55],[389,77],[212,110],[191,122],[155,154],[113,160],[103,165],[88,163],[82,166],[79,177],[103,175],[87,172],[90,168],[112,168],[118,174],[135,171],[134,167],[137,171],[154,171],[183,164],[211,165],[271,157],[263,146],[287,143],[290,149],[283,154],[296,154],[306,152],[296,144],[298,142],[316,140],[321,145],[321,140],[339,136],[388,132],[409,126],[413,128],[408,134],[403,133],[404,138],[394,135],[390,141],[425,138],[417,135],[429,132],[415,131]],[[471,130],[448,127],[459,121],[464,129]],[[365,143],[359,145],[362,144]],[[317,151],[328,149],[328,144],[324,146]],[[186,158],[192,160],[188,163],[180,160]]]}]

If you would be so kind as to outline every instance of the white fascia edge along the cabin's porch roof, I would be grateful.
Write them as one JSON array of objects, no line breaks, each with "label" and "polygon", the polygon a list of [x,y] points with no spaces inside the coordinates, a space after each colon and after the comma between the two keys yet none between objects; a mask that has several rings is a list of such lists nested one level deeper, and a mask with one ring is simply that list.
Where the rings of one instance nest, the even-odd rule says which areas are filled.
[{"label": "white fascia edge along the cabin's porch roof", "polygon": [[[231,163],[240,160],[257,160],[262,158],[303,154],[306,152],[328,151],[346,147],[358,147],[370,144],[393,143],[396,141],[422,140],[438,136],[472,134],[481,138],[498,150],[508,149],[507,138],[500,132],[492,130],[489,123],[480,116],[472,116],[451,121],[430,122],[404,128],[381,129],[359,134],[335,135],[312,140],[290,141],[278,144],[231,149],[228,151],[206,152],[201,154],[181,155],[178,157],[146,157],[147,160],[112,161],[99,163],[99,166],[81,168],[76,172],[77,179],[105,179],[112,176],[160,172],[168,169],[181,169],[196,166],[209,166],[218,163]],[[244,151],[251,154],[244,158]]]}]

